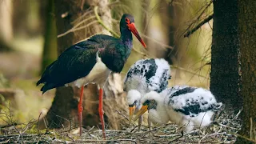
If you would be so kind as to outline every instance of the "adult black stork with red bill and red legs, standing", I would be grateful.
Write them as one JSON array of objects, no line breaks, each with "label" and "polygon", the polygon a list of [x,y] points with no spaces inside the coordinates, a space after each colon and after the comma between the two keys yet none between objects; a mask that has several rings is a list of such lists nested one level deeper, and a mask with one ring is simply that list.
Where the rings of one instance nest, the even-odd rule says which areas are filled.
[{"label": "adult black stork with red bill and red legs, standing", "polygon": [[120,38],[97,34],[90,39],[78,42],[66,49],[58,59],[46,67],[42,78],[37,82],[44,83],[42,94],[59,86],[78,86],[81,88],[78,103],[80,136],[82,135],[82,97],[83,89],[88,83],[99,86],[98,113],[102,123],[102,135],[106,138],[103,119],[103,88],[110,73],[120,73],[133,47],[133,33],[146,48],[145,42],[134,25],[134,17],[123,14],[120,21]]}]

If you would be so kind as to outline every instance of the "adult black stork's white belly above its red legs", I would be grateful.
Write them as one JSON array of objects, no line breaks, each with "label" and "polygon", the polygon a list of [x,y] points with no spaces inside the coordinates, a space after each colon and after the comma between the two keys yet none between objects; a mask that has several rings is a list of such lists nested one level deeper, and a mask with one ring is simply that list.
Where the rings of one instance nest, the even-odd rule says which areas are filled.
[{"label": "adult black stork's white belly above its red legs", "polygon": [[111,73],[111,70],[106,67],[106,65],[102,62],[102,58],[98,57],[97,53],[97,62],[94,65],[93,69],[90,70],[90,73],[86,75],[84,78],[79,78],[74,82],[70,82],[69,86],[78,86],[79,88],[82,86],[86,86],[88,83],[97,83],[99,86],[103,87],[106,79]]}]

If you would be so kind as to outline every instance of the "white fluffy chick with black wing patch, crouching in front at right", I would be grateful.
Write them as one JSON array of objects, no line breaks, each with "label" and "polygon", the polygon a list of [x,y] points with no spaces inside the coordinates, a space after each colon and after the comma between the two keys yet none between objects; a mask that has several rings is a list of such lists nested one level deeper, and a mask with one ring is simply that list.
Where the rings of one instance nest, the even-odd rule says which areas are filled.
[{"label": "white fluffy chick with black wing patch, crouching in front at right", "polygon": [[174,122],[182,126],[186,133],[194,127],[209,126],[214,111],[222,106],[222,102],[217,102],[210,90],[188,86],[174,86],[160,94],[151,91],[145,94],[141,102],[143,106],[135,114],[134,120],[149,110],[150,121],[158,124]]}]

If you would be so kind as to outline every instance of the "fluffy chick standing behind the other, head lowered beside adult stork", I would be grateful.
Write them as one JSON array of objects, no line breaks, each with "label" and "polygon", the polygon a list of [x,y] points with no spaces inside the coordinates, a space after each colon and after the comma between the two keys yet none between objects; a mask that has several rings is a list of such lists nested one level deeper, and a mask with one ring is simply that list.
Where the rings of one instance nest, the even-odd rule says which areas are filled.
[{"label": "fluffy chick standing behind the other, head lowered beside adult stork", "polygon": [[[160,93],[168,86],[170,79],[170,65],[162,58],[142,59],[130,66],[124,82],[124,90],[127,92],[127,102],[130,108],[130,121],[134,111],[141,107],[141,98],[150,91]],[[148,121],[149,128],[150,122]],[[138,130],[142,125],[142,116],[138,120]]]}]

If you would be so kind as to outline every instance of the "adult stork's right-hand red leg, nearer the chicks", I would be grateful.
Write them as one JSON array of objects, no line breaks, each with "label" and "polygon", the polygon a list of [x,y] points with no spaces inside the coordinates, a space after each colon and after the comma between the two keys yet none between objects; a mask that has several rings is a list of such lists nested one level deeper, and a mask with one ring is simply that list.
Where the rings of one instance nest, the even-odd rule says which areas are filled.
[{"label": "adult stork's right-hand red leg, nearer the chicks", "polygon": [[103,89],[102,88],[99,89],[98,114],[99,114],[99,118],[101,119],[101,122],[102,122],[102,135],[103,135],[103,138],[106,138],[105,122],[104,122],[104,118],[103,118],[104,112],[103,112]]}]

